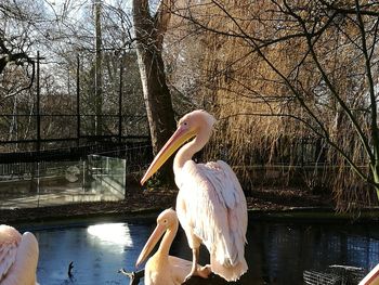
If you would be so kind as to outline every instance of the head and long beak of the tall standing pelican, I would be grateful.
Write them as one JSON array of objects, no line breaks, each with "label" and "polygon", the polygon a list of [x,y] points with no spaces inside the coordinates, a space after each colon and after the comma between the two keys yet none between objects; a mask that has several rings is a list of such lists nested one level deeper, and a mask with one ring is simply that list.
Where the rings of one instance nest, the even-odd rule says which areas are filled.
[{"label": "head and long beak of the tall standing pelican", "polygon": [[143,185],[147,179],[149,179],[158,169],[165,164],[165,161],[186,141],[196,137],[200,129],[211,133],[215,119],[212,115],[202,109],[196,109],[183,116],[179,122],[177,131],[167,141],[153,163],[148,167],[146,173],[141,180]]}]

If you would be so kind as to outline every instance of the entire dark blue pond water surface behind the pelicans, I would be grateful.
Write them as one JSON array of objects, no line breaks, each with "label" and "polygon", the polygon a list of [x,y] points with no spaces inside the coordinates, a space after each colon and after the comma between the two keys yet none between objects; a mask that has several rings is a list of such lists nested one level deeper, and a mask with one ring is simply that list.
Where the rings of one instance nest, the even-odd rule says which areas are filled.
[{"label": "entire dark blue pond water surface behind the pelicans", "polygon": [[[136,257],[154,228],[155,218],[149,217],[29,229],[40,246],[38,281],[42,285],[129,284],[117,271],[135,270]],[[371,269],[379,262],[379,226],[369,224],[250,219],[247,239],[246,284],[303,284],[304,270],[325,270],[330,264]],[[183,232],[171,251],[191,259]],[[201,262],[207,262],[204,248],[200,255]],[[70,261],[71,278],[67,275]]]}]

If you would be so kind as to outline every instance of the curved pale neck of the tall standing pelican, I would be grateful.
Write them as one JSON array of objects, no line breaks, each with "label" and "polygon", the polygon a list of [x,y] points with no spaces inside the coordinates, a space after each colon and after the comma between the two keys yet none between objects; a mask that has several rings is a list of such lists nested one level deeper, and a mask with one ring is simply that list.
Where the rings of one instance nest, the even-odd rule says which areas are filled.
[{"label": "curved pale neck of the tall standing pelican", "polygon": [[201,128],[197,132],[195,139],[184,144],[177,153],[173,159],[173,171],[180,170],[187,160],[191,160],[194,154],[199,152],[209,141],[211,129]]}]

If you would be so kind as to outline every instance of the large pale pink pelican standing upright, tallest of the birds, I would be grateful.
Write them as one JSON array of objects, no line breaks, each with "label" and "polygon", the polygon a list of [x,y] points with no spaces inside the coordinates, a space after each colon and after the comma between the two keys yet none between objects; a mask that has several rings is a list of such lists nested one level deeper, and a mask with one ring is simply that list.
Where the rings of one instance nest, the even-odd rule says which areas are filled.
[{"label": "large pale pink pelican standing upright, tallest of the birds", "polygon": [[247,206],[240,184],[222,160],[195,164],[192,157],[209,141],[215,119],[205,111],[185,115],[177,131],[160,150],[145,176],[143,184],[186,141],[173,161],[178,218],[193,251],[191,275],[197,275],[199,246],[210,252],[213,273],[226,281],[238,280],[248,269],[244,254],[247,230]]}]

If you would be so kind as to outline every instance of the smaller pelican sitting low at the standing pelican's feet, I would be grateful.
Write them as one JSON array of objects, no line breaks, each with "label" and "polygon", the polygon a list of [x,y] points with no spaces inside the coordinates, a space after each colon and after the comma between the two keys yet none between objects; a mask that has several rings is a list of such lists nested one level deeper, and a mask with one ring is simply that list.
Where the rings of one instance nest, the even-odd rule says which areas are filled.
[{"label": "smaller pelican sitting low at the standing pelican's feet", "polygon": [[[169,256],[170,247],[178,232],[178,217],[172,209],[162,211],[157,218],[157,226],[147,239],[142,249],[135,267],[139,267],[153,250],[162,234],[166,232],[158,250],[148,259],[145,265],[145,284],[146,285],[179,285],[182,284],[188,275],[192,262],[178,257]],[[204,277],[210,274],[207,267],[200,268]]]}]

